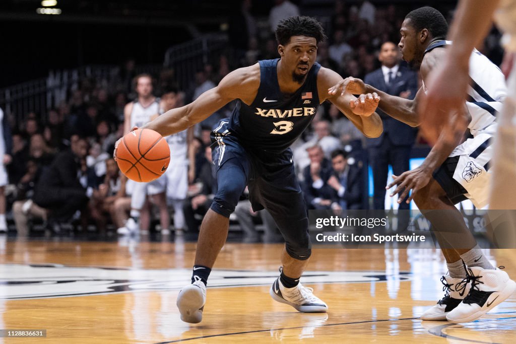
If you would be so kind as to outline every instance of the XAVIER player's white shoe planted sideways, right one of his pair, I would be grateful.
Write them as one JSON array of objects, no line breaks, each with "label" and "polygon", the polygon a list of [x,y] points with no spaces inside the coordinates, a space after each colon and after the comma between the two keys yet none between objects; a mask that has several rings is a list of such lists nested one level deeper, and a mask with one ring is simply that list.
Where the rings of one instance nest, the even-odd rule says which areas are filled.
[{"label": "XAVIER player's white shoe planted sideways, right one of his pair", "polygon": [[281,284],[280,278],[270,287],[270,296],[272,299],[291,305],[296,308],[299,312],[303,313],[326,313],[328,312],[328,306],[322,302],[313,293],[312,288],[306,288],[299,283],[294,288],[285,288]]}]

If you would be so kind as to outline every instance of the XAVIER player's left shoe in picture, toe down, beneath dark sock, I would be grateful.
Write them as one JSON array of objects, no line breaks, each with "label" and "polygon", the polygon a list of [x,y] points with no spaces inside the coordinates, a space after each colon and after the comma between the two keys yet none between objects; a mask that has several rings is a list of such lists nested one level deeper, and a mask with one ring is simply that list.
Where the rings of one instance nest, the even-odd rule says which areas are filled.
[{"label": "XAVIER player's left shoe in picture, toe down, beneath dark sock", "polygon": [[202,320],[205,303],[206,286],[201,280],[197,280],[181,289],[175,304],[181,313],[181,320],[196,324]]}]

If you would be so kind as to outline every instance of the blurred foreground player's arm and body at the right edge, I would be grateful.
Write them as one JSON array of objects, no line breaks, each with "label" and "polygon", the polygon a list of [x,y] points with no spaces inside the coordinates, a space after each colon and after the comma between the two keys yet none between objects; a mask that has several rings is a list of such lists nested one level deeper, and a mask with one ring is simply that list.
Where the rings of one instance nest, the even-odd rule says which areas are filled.
[{"label": "blurred foreground player's arm and body at the right edge", "polygon": [[[516,0],[461,1],[449,38],[457,42],[449,48],[444,62],[432,72],[432,89],[420,106],[425,117],[425,136],[436,140],[439,128],[446,126],[449,113],[460,110],[457,104],[465,100],[468,73],[473,66],[469,56],[473,47],[486,36],[493,21],[505,31],[508,94],[498,115],[498,131],[493,143],[493,180],[489,200],[489,223],[493,240],[502,248],[516,247]],[[506,210],[507,209],[507,210]]]}]

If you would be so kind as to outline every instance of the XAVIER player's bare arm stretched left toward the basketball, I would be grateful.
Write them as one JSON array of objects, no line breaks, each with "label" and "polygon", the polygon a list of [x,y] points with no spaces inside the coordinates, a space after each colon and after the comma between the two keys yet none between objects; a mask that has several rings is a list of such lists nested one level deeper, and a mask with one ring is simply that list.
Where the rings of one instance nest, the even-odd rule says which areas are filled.
[{"label": "XAVIER player's bare arm stretched left toward the basketball", "polygon": [[239,68],[226,75],[217,87],[204,92],[195,101],[165,112],[143,128],[155,130],[162,136],[179,133],[208,118],[237,98],[245,101],[250,94],[256,95],[259,86],[260,68],[257,63],[250,67]]}]

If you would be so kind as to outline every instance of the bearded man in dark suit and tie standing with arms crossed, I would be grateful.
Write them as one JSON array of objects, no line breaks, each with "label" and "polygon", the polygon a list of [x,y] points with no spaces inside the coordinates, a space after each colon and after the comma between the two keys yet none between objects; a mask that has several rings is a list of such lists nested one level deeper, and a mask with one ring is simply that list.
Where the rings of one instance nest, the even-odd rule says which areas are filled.
[{"label": "bearded man in dark suit and tie standing with arms crossed", "polygon": [[[401,65],[396,44],[385,42],[378,59],[382,67],[365,76],[364,82],[391,95],[413,99],[417,92],[417,74]],[[416,129],[387,116],[378,109],[383,122],[383,133],[378,138],[367,139],[369,164],[373,169],[374,209],[385,208],[385,186],[389,164],[395,175],[409,171],[410,150],[414,144]],[[399,209],[408,209],[402,202]]]}]

